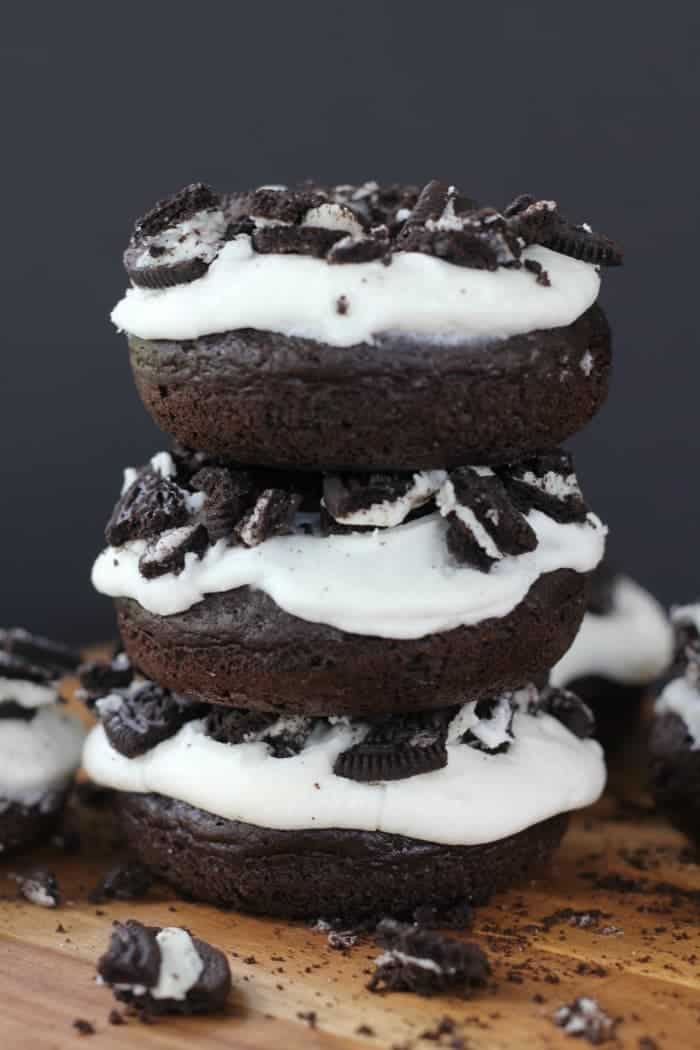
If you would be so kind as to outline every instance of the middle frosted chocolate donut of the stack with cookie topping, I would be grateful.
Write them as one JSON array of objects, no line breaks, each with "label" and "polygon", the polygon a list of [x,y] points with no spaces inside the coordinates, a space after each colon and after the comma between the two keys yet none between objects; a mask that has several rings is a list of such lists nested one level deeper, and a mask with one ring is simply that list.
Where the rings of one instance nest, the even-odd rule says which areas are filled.
[{"label": "middle frosted chocolate donut of the stack with cookie topping", "polygon": [[542,679],[578,629],[604,528],[559,450],[321,476],[175,449],[127,471],[106,534],[93,582],[144,673],[208,701],[342,715]]}]

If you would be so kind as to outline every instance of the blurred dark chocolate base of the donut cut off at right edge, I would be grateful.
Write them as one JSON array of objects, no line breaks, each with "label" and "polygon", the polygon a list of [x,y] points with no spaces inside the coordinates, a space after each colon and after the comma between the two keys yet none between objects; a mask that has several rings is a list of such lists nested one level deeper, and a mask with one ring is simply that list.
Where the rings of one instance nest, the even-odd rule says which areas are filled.
[{"label": "blurred dark chocolate base of the donut cut off at right edge", "polygon": [[649,750],[650,786],[657,807],[700,844],[700,751],[691,749],[683,719],[673,712],[657,715]]}]

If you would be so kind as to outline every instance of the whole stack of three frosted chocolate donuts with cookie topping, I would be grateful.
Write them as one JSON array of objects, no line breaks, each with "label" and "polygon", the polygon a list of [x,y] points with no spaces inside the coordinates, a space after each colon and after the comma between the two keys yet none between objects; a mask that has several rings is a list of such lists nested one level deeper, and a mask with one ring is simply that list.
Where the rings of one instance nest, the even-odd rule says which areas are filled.
[{"label": "whole stack of three frosted chocolate donuts with cookie topping", "polygon": [[559,445],[604,399],[619,250],[454,187],[215,193],[135,226],[113,312],[173,439],[93,582],[85,765],[200,900],[358,918],[482,902],[600,795],[548,685],[606,529]]}]

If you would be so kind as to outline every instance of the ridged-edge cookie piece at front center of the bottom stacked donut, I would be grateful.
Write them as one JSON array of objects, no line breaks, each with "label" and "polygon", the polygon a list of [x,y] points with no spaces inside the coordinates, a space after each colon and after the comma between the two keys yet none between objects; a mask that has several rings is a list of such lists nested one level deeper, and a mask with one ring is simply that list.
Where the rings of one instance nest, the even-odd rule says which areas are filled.
[{"label": "ridged-edge cookie piece at front center of the bottom stacked donut", "polygon": [[447,727],[452,714],[449,709],[377,719],[359,743],[338,755],[333,772],[369,783],[441,770],[447,765]]}]

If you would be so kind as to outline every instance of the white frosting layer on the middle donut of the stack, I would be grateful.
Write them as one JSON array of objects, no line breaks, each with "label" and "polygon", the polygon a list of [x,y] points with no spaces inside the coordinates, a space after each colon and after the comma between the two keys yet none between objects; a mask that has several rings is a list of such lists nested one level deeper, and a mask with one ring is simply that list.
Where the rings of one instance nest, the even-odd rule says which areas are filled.
[{"label": "white frosting layer on the middle donut of the stack", "polygon": [[288,536],[257,547],[219,541],[198,559],[187,554],[179,575],[145,580],[144,541],[108,547],[92,569],[103,594],[135,598],[160,615],[183,612],[206,594],[251,586],[285,612],[353,634],[420,638],[505,616],[544,573],[589,572],[602,558],[607,529],[594,514],[561,525],[537,510],[527,516],[535,550],[503,558],[489,573],[457,565],[440,514],[388,531],[344,536]]}]

